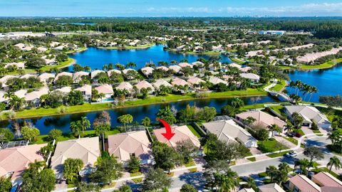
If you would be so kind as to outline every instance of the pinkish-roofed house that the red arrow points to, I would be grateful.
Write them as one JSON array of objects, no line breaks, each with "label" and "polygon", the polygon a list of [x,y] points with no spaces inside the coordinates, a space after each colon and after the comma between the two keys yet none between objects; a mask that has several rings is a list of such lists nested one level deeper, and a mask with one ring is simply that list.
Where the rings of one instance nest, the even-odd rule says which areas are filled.
[{"label": "pinkish-roofed house that the red arrow points to", "polygon": [[172,127],[171,131],[172,133],[175,133],[175,135],[170,140],[167,140],[164,136],[162,136],[162,133],[165,133],[164,128],[154,129],[153,134],[155,134],[155,137],[157,137],[158,142],[165,143],[168,146],[175,147],[177,146],[177,142],[182,142],[185,140],[190,140],[192,144],[197,147],[201,146],[198,138],[190,131],[190,129],[186,125],[180,127]]}]

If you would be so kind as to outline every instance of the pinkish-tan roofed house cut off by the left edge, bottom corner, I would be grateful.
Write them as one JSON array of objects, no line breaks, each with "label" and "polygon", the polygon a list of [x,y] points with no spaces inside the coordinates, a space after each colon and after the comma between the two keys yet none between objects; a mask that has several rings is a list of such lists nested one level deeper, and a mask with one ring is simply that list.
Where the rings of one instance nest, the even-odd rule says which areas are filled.
[{"label": "pinkish-tan roofed house cut off by the left edge, bottom corner", "polygon": [[21,176],[30,163],[44,161],[38,151],[46,144],[15,146],[0,150],[0,177],[11,177],[12,183],[20,184]]}]

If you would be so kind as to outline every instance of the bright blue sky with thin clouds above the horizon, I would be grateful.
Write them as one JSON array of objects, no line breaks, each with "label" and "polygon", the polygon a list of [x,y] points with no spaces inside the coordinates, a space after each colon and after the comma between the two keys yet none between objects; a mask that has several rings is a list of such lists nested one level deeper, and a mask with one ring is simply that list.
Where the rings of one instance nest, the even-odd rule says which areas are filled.
[{"label": "bright blue sky with thin clouds above the horizon", "polygon": [[342,1],[0,0],[0,16],[342,16]]}]

